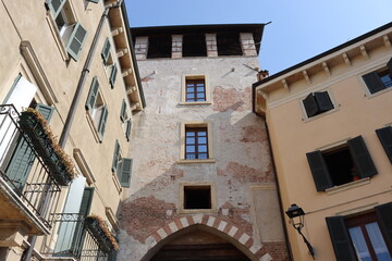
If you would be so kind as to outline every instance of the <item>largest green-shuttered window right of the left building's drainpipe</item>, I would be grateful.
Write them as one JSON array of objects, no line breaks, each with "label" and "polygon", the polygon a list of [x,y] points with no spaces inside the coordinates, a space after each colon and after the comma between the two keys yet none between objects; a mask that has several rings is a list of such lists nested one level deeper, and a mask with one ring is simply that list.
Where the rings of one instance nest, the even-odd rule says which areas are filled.
[{"label": "largest green-shuttered window right of the left building's drainpipe", "polygon": [[99,141],[102,141],[108,120],[108,107],[105,104],[103,97],[99,91],[97,77],[93,78],[85,108],[89,112],[95,129],[98,132]]}]

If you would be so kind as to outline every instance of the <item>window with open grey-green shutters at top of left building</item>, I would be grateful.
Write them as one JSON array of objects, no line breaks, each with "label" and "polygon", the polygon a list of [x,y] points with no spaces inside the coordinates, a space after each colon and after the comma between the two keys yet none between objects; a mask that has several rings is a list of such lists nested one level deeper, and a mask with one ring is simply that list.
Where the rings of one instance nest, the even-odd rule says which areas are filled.
[{"label": "window with open grey-green shutters at top of left building", "polygon": [[70,0],[48,0],[45,4],[50,10],[66,52],[77,61],[87,30],[76,22]]}]

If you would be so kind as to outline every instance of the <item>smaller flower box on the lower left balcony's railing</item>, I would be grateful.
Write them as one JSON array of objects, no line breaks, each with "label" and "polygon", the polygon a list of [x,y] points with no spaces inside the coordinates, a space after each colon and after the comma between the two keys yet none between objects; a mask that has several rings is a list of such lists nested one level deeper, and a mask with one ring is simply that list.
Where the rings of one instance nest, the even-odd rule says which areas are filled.
[{"label": "smaller flower box on the lower left balcony's railing", "polygon": [[105,252],[109,252],[112,249],[118,251],[120,249],[118,241],[109,231],[102,217],[96,214],[88,215],[86,217],[86,227],[98,240],[100,247]]}]

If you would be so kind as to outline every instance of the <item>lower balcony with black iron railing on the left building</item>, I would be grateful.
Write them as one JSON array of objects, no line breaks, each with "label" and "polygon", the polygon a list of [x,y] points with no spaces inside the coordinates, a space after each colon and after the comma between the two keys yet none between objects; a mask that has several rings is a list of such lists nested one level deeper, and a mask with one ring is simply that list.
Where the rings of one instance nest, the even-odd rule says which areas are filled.
[{"label": "lower balcony with black iron railing on the left building", "polygon": [[101,237],[94,235],[86,226],[86,219],[79,213],[54,213],[52,226],[58,233],[47,236],[41,253],[49,259],[107,260],[110,249],[103,249]]}]

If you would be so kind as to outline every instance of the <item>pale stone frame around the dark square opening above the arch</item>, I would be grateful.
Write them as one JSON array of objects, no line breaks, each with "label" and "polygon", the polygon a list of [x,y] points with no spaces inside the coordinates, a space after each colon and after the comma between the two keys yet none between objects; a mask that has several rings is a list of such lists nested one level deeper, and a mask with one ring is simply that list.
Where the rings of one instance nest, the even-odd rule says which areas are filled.
[{"label": "pale stone frame around the dark square opening above the arch", "polygon": [[[210,187],[211,189],[211,209],[184,209],[184,187]],[[179,186],[179,213],[191,214],[191,213],[218,213],[217,209],[217,197],[216,186],[212,182],[183,182]]]}]

